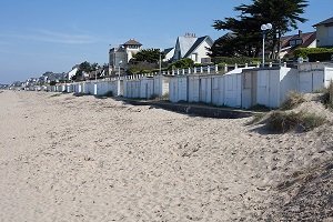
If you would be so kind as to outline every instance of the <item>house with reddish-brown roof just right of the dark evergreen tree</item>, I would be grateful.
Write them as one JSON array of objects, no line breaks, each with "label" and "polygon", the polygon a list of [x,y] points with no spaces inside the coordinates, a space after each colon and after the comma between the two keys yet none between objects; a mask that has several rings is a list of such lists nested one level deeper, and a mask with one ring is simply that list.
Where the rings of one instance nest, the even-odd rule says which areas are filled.
[{"label": "house with reddish-brown roof just right of the dark evergreen tree", "polygon": [[301,30],[297,34],[286,36],[281,38],[280,58],[286,54],[292,54],[297,48],[315,48],[316,32],[303,33]]}]

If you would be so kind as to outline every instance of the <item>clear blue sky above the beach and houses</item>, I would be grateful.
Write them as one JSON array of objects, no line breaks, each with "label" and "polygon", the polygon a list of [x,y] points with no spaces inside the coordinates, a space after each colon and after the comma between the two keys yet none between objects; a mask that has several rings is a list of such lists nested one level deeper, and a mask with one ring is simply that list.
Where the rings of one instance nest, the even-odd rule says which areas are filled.
[{"label": "clear blue sky above the beach and houses", "polygon": [[[0,0],[0,83],[46,71],[68,72],[83,61],[108,62],[108,50],[134,38],[144,48],[170,48],[185,32],[224,32],[213,20],[238,16],[251,0]],[[310,0],[300,29],[333,17],[331,0]],[[296,32],[296,31],[294,31]]]}]

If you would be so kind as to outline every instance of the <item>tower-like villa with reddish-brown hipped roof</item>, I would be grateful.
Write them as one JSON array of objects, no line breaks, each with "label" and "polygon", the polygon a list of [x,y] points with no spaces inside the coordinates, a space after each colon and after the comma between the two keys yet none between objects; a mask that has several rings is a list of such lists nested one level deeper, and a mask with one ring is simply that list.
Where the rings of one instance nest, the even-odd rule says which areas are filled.
[{"label": "tower-like villa with reddish-brown hipped roof", "polygon": [[134,39],[130,39],[118,48],[112,48],[109,51],[109,68],[110,71],[115,71],[121,62],[121,68],[127,68],[129,61],[134,54],[140,52],[142,44]]}]

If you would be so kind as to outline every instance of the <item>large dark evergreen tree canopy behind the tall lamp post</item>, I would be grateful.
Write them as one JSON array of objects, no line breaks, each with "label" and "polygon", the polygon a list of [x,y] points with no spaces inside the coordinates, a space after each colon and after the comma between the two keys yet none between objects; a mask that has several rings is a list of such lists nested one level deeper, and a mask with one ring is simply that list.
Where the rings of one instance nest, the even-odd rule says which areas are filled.
[{"label": "large dark evergreen tree canopy behind the tall lamp post", "polygon": [[235,7],[234,10],[240,12],[238,18],[215,20],[213,24],[216,30],[231,31],[233,38],[218,39],[210,54],[258,57],[262,39],[260,27],[272,23],[268,38],[272,57],[275,58],[281,37],[297,29],[297,22],[306,21],[301,16],[307,6],[307,0],[253,0],[251,4]]}]

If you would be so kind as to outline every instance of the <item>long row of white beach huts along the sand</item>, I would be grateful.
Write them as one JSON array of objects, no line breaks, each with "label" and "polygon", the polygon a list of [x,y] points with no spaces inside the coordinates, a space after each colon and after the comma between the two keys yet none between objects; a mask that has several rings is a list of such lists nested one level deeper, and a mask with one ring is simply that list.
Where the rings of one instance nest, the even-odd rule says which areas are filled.
[{"label": "long row of white beach huts along the sand", "polygon": [[[205,70],[205,72],[204,72]],[[295,68],[244,67],[229,72],[172,72],[82,81],[48,87],[48,91],[94,95],[122,95],[132,99],[169,97],[170,102],[201,102],[249,109],[254,105],[279,108],[290,91],[303,93],[327,88],[333,80],[333,63],[306,62]]]}]

